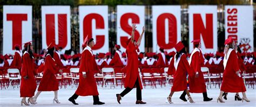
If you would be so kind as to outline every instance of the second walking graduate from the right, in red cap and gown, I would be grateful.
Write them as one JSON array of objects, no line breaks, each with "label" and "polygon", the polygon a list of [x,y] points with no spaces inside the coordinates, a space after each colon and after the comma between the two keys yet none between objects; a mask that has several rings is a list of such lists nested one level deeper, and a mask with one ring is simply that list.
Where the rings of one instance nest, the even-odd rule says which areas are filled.
[{"label": "second walking graduate from the right, in red cap and gown", "polygon": [[190,63],[190,67],[193,68],[194,75],[189,75],[188,76],[188,81],[189,81],[189,87],[190,87],[190,92],[191,93],[203,93],[204,101],[211,101],[212,98],[207,97],[207,92],[206,92],[206,85],[205,85],[205,80],[204,80],[204,75],[201,72],[201,63],[203,63],[202,58],[201,58],[201,43],[200,39],[198,40],[193,40],[192,41],[194,44],[194,50],[191,53],[190,60],[188,62]]}]

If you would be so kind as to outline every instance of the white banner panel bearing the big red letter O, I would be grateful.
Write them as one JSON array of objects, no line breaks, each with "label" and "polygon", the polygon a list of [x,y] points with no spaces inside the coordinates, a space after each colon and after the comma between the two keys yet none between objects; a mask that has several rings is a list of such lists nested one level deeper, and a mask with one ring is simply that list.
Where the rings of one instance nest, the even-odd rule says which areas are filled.
[{"label": "white banner panel bearing the big red letter O", "polygon": [[181,40],[180,6],[152,6],[153,52],[164,47],[168,53],[176,51],[174,46]]}]

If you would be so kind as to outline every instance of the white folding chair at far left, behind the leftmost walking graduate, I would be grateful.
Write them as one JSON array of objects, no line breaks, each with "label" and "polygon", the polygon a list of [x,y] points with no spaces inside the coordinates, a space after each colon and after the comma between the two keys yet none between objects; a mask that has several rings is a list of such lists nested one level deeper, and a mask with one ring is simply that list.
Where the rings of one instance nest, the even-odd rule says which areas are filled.
[{"label": "white folding chair at far left, behind the leftmost walking graduate", "polygon": [[12,82],[15,81],[13,88],[15,88],[15,85],[19,87],[19,85],[21,85],[21,75],[19,74],[19,69],[7,69],[7,72],[9,75],[10,84],[12,85]]}]

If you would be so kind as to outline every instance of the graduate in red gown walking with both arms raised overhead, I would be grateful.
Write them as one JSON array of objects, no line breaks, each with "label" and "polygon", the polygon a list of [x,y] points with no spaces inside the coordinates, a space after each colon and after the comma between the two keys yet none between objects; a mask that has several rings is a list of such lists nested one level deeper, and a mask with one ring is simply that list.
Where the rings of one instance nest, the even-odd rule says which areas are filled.
[{"label": "graduate in red gown walking with both arms raised overhead", "polygon": [[139,60],[138,60],[138,53],[140,45],[140,41],[142,40],[143,34],[144,34],[144,27],[142,34],[140,34],[140,37],[138,39],[138,42],[134,39],[134,31],[135,31],[136,25],[132,24],[132,34],[131,38],[126,41],[127,47],[126,47],[126,54],[127,54],[127,65],[125,66],[126,70],[126,79],[124,82],[125,90],[121,92],[120,94],[116,94],[117,96],[117,102],[120,104],[120,100],[122,97],[124,97],[127,93],[129,93],[133,88],[137,88],[137,101],[136,104],[146,104],[146,102],[142,101],[142,82],[140,81],[139,77]]}]

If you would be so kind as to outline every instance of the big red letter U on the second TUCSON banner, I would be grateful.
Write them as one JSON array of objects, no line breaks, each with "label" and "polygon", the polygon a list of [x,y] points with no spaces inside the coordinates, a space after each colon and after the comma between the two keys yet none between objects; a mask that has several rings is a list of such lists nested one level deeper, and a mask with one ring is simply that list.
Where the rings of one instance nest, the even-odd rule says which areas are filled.
[{"label": "big red letter U on the second TUCSON banner", "polygon": [[[68,30],[67,30],[67,19],[66,14],[58,14],[58,37],[59,43],[57,47],[65,48],[68,44]],[[45,15],[46,22],[46,44],[49,46],[52,42],[55,43],[55,18],[54,14]]]}]

